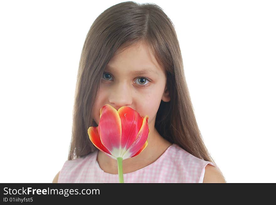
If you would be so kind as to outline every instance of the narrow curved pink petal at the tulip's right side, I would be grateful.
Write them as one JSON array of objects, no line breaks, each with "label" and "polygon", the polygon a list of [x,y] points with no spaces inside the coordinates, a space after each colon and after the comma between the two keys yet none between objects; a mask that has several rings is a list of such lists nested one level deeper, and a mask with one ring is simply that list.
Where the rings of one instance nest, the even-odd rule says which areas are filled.
[{"label": "narrow curved pink petal at the tulip's right side", "polygon": [[146,115],[145,118],[143,119],[141,129],[139,130],[135,138],[135,141],[130,145],[129,149],[125,152],[125,154],[123,155],[123,159],[127,159],[135,155],[141,149],[141,147],[144,146],[144,144],[146,143],[150,133],[150,129],[147,123],[148,119],[149,119],[149,116]]}]

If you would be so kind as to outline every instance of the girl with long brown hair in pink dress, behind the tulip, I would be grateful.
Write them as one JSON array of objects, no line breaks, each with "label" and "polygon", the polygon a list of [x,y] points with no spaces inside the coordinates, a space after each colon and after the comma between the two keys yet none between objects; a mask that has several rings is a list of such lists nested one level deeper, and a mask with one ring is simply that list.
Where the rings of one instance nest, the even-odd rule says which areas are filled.
[{"label": "girl with long brown hair in pink dress, behind the tulip", "polygon": [[53,182],[119,182],[117,161],[88,137],[105,104],[149,116],[148,146],[123,161],[125,183],[225,182],[197,126],[173,23],[156,4],[119,3],[92,24],[77,75],[68,160]]}]

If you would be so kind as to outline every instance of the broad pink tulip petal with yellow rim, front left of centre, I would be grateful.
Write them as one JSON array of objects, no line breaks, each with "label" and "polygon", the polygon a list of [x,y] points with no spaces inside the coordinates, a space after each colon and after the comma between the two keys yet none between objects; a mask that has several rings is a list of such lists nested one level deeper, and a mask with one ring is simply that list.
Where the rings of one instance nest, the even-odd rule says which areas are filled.
[{"label": "broad pink tulip petal with yellow rim, front left of centre", "polygon": [[111,105],[104,105],[100,110],[99,135],[102,144],[112,156],[120,157],[122,126],[118,111]]}]

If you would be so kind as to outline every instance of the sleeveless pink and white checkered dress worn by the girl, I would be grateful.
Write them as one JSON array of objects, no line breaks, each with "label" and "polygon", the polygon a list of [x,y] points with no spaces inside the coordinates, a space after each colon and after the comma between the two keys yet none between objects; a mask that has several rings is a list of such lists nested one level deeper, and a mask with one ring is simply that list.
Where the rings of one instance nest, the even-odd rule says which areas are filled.
[{"label": "sleeveless pink and white checkered dress worn by the girl", "polygon": [[[65,161],[58,183],[119,183],[118,174],[104,172],[98,165],[98,151]],[[199,159],[177,144],[172,144],[153,163],[125,173],[125,183],[202,183],[205,166],[213,162]]]}]

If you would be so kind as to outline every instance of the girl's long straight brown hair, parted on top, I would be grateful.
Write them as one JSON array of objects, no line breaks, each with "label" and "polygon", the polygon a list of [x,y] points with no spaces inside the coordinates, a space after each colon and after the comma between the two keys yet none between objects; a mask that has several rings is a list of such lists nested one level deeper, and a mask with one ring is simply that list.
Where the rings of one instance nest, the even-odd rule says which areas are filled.
[{"label": "girl's long straight brown hair, parted on top", "polygon": [[89,140],[87,130],[98,126],[92,118],[92,110],[105,66],[118,49],[141,41],[151,47],[167,74],[171,100],[161,100],[155,122],[157,131],[190,154],[215,163],[195,119],[174,25],[156,4],[135,2],[118,3],[106,9],[88,31],[77,74],[68,160],[97,149]]}]

